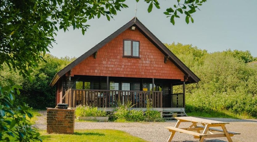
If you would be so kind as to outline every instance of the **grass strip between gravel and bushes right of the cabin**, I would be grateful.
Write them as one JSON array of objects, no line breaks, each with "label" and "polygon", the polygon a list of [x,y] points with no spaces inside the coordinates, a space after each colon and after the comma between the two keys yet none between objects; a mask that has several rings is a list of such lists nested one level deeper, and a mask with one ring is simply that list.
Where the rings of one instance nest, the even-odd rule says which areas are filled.
[{"label": "grass strip between gravel and bushes right of the cabin", "polygon": [[211,113],[206,113],[202,111],[186,112],[188,116],[196,117],[209,117],[209,118],[234,118],[234,119],[256,119],[255,117],[249,116],[247,114],[234,114],[229,111],[213,111]]}]

